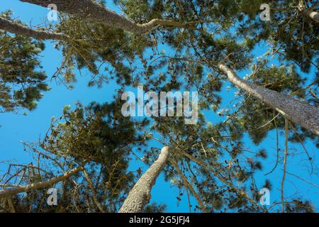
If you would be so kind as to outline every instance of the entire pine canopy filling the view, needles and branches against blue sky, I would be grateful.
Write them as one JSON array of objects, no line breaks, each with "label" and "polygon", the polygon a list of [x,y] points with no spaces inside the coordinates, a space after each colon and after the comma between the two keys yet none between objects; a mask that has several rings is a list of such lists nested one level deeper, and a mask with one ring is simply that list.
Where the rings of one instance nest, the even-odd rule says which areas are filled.
[{"label": "entire pine canopy filling the view, needles and branches against blue sky", "polygon": [[[118,212],[142,175],[129,164],[157,163],[165,146],[171,150],[164,177],[179,189],[177,201],[186,194],[190,211],[316,210],[312,201],[284,197],[287,157],[306,157],[311,175],[318,177],[313,158],[318,150],[309,152],[305,145],[319,148],[315,1],[114,0],[123,15],[103,0],[21,2],[56,4],[59,21],[32,28],[11,11],[1,14],[1,112],[36,111],[53,81],[76,86],[77,70],[89,71],[88,87],[114,83],[120,88],[111,103],[65,106],[59,118],[52,118],[45,138],[23,142],[35,163],[11,164],[0,178],[0,212]],[[260,18],[262,4],[270,6],[270,21]],[[49,78],[40,65],[46,40],[55,42],[63,56]],[[176,113],[123,116],[121,95],[140,84],[158,94],[198,91],[197,123],[186,125]],[[235,92],[231,99],[227,89]],[[212,121],[213,114],[218,119]],[[276,148],[259,149],[269,139]],[[247,148],[248,141],[255,148]],[[271,172],[264,170],[269,154],[276,156]],[[57,206],[45,202],[47,185],[13,193],[35,182],[49,184],[74,168],[72,175],[52,183],[58,188]],[[281,184],[281,198],[264,206],[260,189],[274,190],[273,180],[260,175],[279,168],[283,177],[274,180]],[[149,204],[142,211],[163,212],[165,204]]]}]

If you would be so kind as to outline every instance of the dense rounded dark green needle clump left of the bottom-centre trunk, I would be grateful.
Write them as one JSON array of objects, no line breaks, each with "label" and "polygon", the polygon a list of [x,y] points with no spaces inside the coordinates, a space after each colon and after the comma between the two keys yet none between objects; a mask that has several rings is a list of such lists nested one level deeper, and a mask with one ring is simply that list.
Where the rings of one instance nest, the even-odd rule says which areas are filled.
[{"label": "dense rounded dark green needle clump left of the bottom-centre trunk", "polygon": [[[69,106],[63,110],[63,122],[50,129],[45,138],[45,149],[71,155],[80,160],[97,163],[128,154],[133,145],[143,145],[147,138],[138,132],[147,121],[133,122],[121,114],[121,102],[92,103],[86,108],[77,104],[74,111]],[[123,162],[122,165],[128,165]]]}]

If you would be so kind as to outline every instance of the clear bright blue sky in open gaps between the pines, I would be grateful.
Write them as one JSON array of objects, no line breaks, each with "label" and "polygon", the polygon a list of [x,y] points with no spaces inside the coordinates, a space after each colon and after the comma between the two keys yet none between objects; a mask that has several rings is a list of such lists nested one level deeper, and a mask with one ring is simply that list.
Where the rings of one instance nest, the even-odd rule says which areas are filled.
[{"label": "clear bright blue sky in open gaps between the pines", "polygon": [[[118,11],[114,6],[108,4],[113,10]],[[31,4],[22,3],[18,0],[10,1],[1,1],[0,11],[6,11],[11,9],[13,11],[13,17],[19,18],[25,23],[37,24],[45,21],[47,15],[47,9],[41,8],[39,6],[33,6]],[[50,77],[60,66],[62,61],[61,52],[55,50],[53,46],[55,43],[46,41],[46,49],[41,53],[43,68],[45,72]],[[267,51],[267,48],[264,45],[260,45],[254,50],[256,56],[263,55]],[[274,61],[274,64],[276,61]],[[242,72],[240,76],[244,76],[247,72]],[[98,101],[100,103],[106,101],[112,101],[113,94],[116,94],[115,90],[117,88],[116,84],[111,82],[109,84],[104,84],[101,89],[96,87],[87,87],[86,84],[89,81],[89,75],[87,73],[82,73],[82,76],[77,74],[77,83],[74,86],[74,89],[69,90],[62,85],[57,85],[55,82],[50,84],[52,88],[49,92],[45,92],[43,99],[40,100],[38,108],[35,111],[28,113],[27,116],[21,114],[1,114],[0,116],[0,160],[14,160],[17,163],[26,164],[30,157],[28,153],[23,152],[23,146],[19,142],[23,141],[35,141],[41,135],[44,135],[47,131],[47,127],[50,125],[50,120],[52,116],[60,116],[62,109],[67,104],[74,104],[75,102],[82,102],[82,104],[89,104],[91,101]],[[221,95],[223,96],[222,108],[228,108],[230,106],[230,101],[234,99],[234,92],[236,89],[230,89],[226,91],[225,87],[230,86],[228,82],[224,84],[224,89]],[[217,114],[214,114],[213,111],[206,112],[208,121],[217,122],[223,120],[218,117]],[[264,171],[256,175],[257,185],[261,185],[264,182],[264,179],[268,178],[272,180],[273,190],[271,194],[271,202],[279,201],[280,198],[280,181],[282,177],[282,165],[277,167],[276,171],[265,177],[263,174],[267,170],[272,170],[274,166],[274,160],[276,157],[276,136],[274,133],[270,133],[268,138],[264,140],[259,146],[252,144],[249,138],[245,139],[245,145],[247,150],[257,151],[259,148],[266,148],[269,154],[267,160],[264,161]],[[160,148],[160,145],[157,143],[151,143],[151,146]],[[280,137],[280,146],[281,150],[284,150],[284,136]],[[292,149],[294,148],[294,149]],[[306,143],[306,148],[310,155],[313,157],[314,164],[318,165],[318,160],[315,156],[318,153],[313,143],[308,141]],[[303,153],[301,145],[291,145],[291,153]],[[226,157],[225,157],[226,159]],[[317,175],[309,175],[307,170],[306,156],[304,154],[289,156],[289,165],[288,171],[303,177],[304,179],[313,182],[313,184],[319,185],[319,178]],[[133,160],[130,165],[130,170],[136,170],[138,167],[143,167],[143,170],[146,170],[146,167],[142,165],[139,160]],[[0,164],[0,170],[5,170],[6,166]],[[1,172],[0,172],[1,175]],[[291,175],[286,177],[285,184],[285,195],[295,196],[298,194],[298,197],[303,199],[310,199],[315,203],[315,206],[319,207],[318,201],[318,188],[312,187],[310,184],[297,179]],[[164,182],[162,175],[160,175],[155,187],[152,189],[152,200],[156,201],[158,204],[167,204],[167,211],[169,212],[187,212],[189,211],[187,205],[186,195],[182,198],[179,206],[177,204],[176,196],[178,195],[178,189],[172,187],[169,182]],[[195,205],[194,199],[192,204]],[[317,209],[318,211],[318,209]]]}]

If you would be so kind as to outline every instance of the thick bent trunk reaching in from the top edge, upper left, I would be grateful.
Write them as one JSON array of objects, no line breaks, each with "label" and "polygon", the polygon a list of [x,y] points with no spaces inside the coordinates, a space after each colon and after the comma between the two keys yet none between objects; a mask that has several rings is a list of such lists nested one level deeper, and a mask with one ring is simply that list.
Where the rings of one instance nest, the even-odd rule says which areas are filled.
[{"label": "thick bent trunk reaching in from the top edge, upper left", "polygon": [[118,13],[106,9],[91,0],[20,0],[30,4],[47,7],[49,4],[55,4],[57,11],[69,13],[83,20],[103,23],[106,26],[121,28],[131,33],[142,34],[152,31],[158,26],[183,27],[181,23],[162,19],[153,19],[148,23],[138,24],[130,21],[128,18]]}]

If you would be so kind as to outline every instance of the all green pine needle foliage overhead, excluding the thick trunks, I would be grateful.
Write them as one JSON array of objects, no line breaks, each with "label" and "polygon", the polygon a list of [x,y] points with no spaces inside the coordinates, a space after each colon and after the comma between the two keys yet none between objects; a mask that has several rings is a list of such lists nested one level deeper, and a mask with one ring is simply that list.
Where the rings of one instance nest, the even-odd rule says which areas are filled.
[{"label": "all green pine needle foliage overhead, excluding the thick trunks", "polygon": [[[104,1],[98,2],[104,4]],[[56,31],[70,38],[57,42],[56,48],[62,50],[64,60],[53,77],[62,75],[64,81],[72,85],[77,81],[74,70],[87,69],[92,74],[90,87],[101,87],[114,80],[121,87],[120,94],[128,86],[139,84],[154,92],[194,89],[200,96],[198,123],[185,125],[181,117],[133,121],[122,116],[123,102],[118,99],[111,104],[92,103],[86,107],[77,104],[74,110],[65,106],[63,116],[52,121],[40,147],[57,155],[58,163],[66,162],[66,169],[73,167],[74,162],[89,161],[86,168],[105,211],[115,212],[123,203],[135,179],[133,172],[128,172],[131,151],[135,148],[141,151],[150,138],[177,150],[164,167],[165,179],[179,190],[177,202],[184,194],[198,194],[205,209],[211,212],[265,211],[256,202],[261,196],[259,187],[272,189],[272,182],[266,179],[263,186],[257,186],[254,175],[263,170],[262,161],[267,159],[269,150],[256,148],[247,152],[244,141],[249,136],[259,145],[269,132],[278,133],[284,128],[284,117],[259,99],[239,91],[232,101],[235,102],[233,113],[219,111],[218,115],[226,117],[225,121],[208,122],[204,111],[219,109],[223,83],[227,80],[216,65],[225,60],[234,71],[250,69],[252,72],[244,78],[249,82],[318,106],[318,71],[308,87],[305,84],[313,78],[303,78],[300,74],[301,71],[311,76],[311,66],[318,65],[318,26],[297,12],[296,1],[288,0],[114,2],[136,23],[167,18],[188,26],[134,35],[61,14]],[[271,5],[272,21],[259,18],[259,6],[264,3]],[[44,49],[43,43],[0,31],[0,44],[0,78],[3,80],[0,106],[4,111],[17,107],[34,109],[35,101],[42,96],[40,92],[48,89],[45,74],[36,71],[40,67],[37,55]],[[269,66],[268,60],[253,60],[254,48],[265,44],[270,49],[264,57],[276,57],[278,66]],[[319,147],[313,133],[293,123],[289,128],[291,142],[304,143],[310,138],[316,140],[315,145]],[[146,130],[156,136],[145,133]],[[158,151],[158,148],[144,150],[144,161],[151,164]],[[38,182],[57,172],[41,173],[33,172],[23,182]],[[140,173],[139,169],[137,176]],[[79,174],[72,179],[82,182],[84,177]],[[59,196],[63,199],[57,209],[41,205],[45,190],[38,190],[26,199],[17,197],[14,202],[20,207],[19,211],[26,211],[32,204],[39,206],[40,211],[99,211],[92,202],[94,192],[89,190],[89,185],[74,186],[74,182],[69,180],[60,186]],[[75,199],[73,194],[77,194]],[[203,209],[198,204],[191,208]],[[287,212],[313,210],[309,201],[293,199],[286,203]],[[163,212],[165,206],[150,204],[144,211]]]}]

